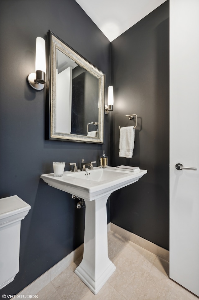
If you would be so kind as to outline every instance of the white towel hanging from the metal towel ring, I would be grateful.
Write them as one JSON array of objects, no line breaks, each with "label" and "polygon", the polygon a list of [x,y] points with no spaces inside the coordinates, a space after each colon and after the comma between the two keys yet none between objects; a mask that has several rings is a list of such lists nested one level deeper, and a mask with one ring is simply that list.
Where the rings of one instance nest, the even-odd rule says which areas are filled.
[{"label": "white towel hanging from the metal towel ring", "polygon": [[135,140],[134,126],[122,127],[119,136],[119,156],[132,158]]}]

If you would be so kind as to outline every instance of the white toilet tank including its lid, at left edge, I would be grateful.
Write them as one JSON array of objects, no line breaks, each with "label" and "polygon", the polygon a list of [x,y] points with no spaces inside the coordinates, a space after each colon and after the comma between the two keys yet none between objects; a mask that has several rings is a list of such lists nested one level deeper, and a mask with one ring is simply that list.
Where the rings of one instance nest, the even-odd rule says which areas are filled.
[{"label": "white toilet tank including its lid, at left edge", "polygon": [[19,272],[21,220],[29,209],[16,195],[0,199],[0,289]]}]

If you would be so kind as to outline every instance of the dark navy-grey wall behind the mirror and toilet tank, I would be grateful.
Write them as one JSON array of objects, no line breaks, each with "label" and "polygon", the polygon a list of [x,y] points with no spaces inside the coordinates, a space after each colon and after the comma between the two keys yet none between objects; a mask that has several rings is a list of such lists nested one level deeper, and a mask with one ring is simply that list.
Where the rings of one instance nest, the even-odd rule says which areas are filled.
[{"label": "dark navy-grey wall behind the mirror and toilet tank", "polygon": [[[69,170],[68,162],[99,165],[103,150],[110,155],[110,116],[104,145],[45,140],[45,91],[34,91],[26,77],[34,72],[36,37],[46,40],[49,29],[110,84],[110,42],[76,1],[0,1],[0,198],[16,194],[31,205],[21,221],[19,273],[1,294],[18,293],[83,242],[85,212],[40,174],[53,172],[53,161],[65,161]],[[108,205],[108,221],[109,214]]]}]

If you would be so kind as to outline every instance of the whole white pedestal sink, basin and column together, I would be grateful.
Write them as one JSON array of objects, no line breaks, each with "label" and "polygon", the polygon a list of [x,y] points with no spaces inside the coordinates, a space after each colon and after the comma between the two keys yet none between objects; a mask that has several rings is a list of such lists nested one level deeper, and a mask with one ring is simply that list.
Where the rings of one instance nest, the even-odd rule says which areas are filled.
[{"label": "whole white pedestal sink, basin and column together", "polygon": [[115,271],[108,257],[106,202],[113,191],[138,181],[146,170],[138,173],[108,167],[64,172],[63,177],[43,174],[41,178],[54,188],[74,194],[86,203],[84,254],[75,273],[97,294]]}]

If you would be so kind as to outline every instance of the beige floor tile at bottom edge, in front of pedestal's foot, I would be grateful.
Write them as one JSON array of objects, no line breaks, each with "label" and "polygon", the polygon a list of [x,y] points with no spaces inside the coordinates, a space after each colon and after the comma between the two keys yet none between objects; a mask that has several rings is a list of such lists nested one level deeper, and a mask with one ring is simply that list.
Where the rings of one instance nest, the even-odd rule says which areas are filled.
[{"label": "beige floor tile at bottom edge, in front of pedestal's foot", "polygon": [[109,283],[105,283],[97,295],[94,295],[90,290],[82,298],[82,300],[125,300]]}]

